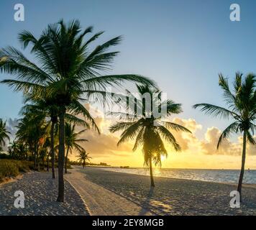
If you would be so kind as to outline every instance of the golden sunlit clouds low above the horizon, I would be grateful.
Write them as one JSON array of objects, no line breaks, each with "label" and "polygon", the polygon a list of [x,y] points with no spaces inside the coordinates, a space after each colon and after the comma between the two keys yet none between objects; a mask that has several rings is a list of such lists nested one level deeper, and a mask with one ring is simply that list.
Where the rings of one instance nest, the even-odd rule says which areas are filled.
[{"label": "golden sunlit clouds low above the horizon", "polygon": [[[91,111],[88,104],[86,108]],[[104,119],[101,112],[97,110],[94,112],[99,115],[95,118],[95,121],[101,129],[101,134],[99,135],[93,130],[88,130],[83,134],[83,138],[89,141],[83,144],[83,147],[91,153],[93,162],[104,161],[111,165],[125,165],[125,162],[127,162],[127,165],[142,166],[143,157],[141,151],[132,152],[133,142],[124,143],[119,147],[116,146],[119,141],[119,134],[111,134],[109,126],[117,119]],[[193,162],[205,162],[207,157],[213,157],[214,155],[216,157],[219,156],[219,159],[227,160],[229,156],[238,157],[242,154],[242,137],[237,137],[237,142],[232,142],[230,139],[224,140],[219,150],[217,150],[216,146],[221,135],[220,129],[210,127],[206,130],[204,138],[199,139],[197,133],[202,132],[202,125],[198,124],[196,120],[175,118],[173,122],[186,126],[192,132],[192,134],[188,134],[172,131],[182,148],[182,152],[178,153],[178,155],[173,155],[172,153],[175,152],[173,147],[170,144],[166,144],[171,160],[177,160],[175,162],[176,165],[184,165],[184,162],[186,162],[186,165],[189,162],[192,165]],[[256,146],[247,144],[247,155],[256,155]],[[223,157],[221,158],[221,156]],[[192,167],[191,165],[188,166]]]}]

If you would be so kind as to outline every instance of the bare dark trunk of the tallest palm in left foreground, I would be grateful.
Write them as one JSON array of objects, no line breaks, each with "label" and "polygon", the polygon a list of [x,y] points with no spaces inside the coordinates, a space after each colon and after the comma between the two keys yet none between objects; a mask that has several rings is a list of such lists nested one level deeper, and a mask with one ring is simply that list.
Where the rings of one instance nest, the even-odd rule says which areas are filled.
[{"label": "bare dark trunk of the tallest palm in left foreground", "polygon": [[58,154],[58,202],[64,202],[64,178],[63,168],[65,160],[65,109],[60,111],[60,128],[59,128],[59,154]]}]

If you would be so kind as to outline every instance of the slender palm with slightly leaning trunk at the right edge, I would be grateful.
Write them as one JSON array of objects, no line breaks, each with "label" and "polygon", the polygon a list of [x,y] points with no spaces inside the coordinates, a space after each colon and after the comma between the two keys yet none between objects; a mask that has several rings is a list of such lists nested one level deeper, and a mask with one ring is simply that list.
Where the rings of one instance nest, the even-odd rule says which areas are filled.
[{"label": "slender palm with slightly leaning trunk at the right edge", "polygon": [[243,134],[242,167],[237,186],[240,201],[242,201],[242,180],[244,176],[247,141],[251,144],[256,143],[253,138],[256,128],[254,123],[256,119],[256,78],[255,75],[248,74],[242,79],[242,73],[236,73],[234,92],[232,92],[229,89],[227,78],[219,74],[219,86],[224,92],[223,96],[224,101],[227,103],[227,109],[209,103],[198,103],[194,105],[193,108],[200,108],[205,114],[219,116],[219,118],[232,119],[232,124],[230,124],[219,137],[217,149],[219,149],[224,139],[229,138],[230,134],[238,132]]}]

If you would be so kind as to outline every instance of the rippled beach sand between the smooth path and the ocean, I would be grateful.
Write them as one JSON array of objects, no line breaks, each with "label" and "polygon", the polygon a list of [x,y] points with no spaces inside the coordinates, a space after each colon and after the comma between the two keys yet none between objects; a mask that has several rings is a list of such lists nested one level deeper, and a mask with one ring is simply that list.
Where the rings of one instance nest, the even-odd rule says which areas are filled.
[{"label": "rippled beach sand between the smooth path and the ocean", "polygon": [[[143,175],[110,172],[93,167],[75,167],[74,170],[83,173],[84,180],[100,185],[157,215],[256,214],[254,186],[244,185],[241,208],[230,208],[229,201],[232,198],[229,194],[236,190],[236,185],[232,184],[155,178],[156,187],[152,189],[150,178]],[[91,198],[93,196],[95,198],[95,195]],[[107,197],[104,202],[109,203]]]}]

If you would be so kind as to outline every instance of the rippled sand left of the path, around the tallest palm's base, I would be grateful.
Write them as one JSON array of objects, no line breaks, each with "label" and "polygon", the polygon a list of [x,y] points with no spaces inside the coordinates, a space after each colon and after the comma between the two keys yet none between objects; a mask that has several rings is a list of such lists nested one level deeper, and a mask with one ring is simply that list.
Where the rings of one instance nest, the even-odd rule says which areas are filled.
[{"label": "rippled sand left of the path, around the tallest palm's base", "polygon": [[[56,202],[58,178],[50,172],[27,172],[17,180],[0,184],[0,216],[87,216],[88,210],[76,190],[65,182],[65,202]],[[24,208],[14,207],[14,192],[24,193]]]}]

